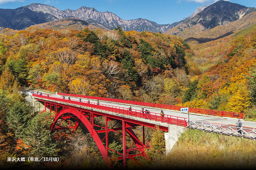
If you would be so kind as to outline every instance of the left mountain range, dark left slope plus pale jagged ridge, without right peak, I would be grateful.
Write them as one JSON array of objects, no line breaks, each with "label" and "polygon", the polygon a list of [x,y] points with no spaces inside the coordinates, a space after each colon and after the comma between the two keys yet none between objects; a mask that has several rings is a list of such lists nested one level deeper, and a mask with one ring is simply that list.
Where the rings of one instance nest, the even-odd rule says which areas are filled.
[{"label": "left mountain range, dark left slope plus pale jagged ridge, without right peak", "polygon": [[[194,13],[199,12],[199,10]],[[11,29],[25,29],[31,25],[41,24],[49,21],[65,18],[78,18],[103,29],[114,29],[121,26],[125,31],[135,30],[138,32],[165,32],[187,18],[172,24],[157,24],[148,19],[132,19],[125,20],[116,14],[105,11],[100,12],[93,7],[80,7],[77,10],[60,10],[56,7],[31,3],[16,9],[0,9],[0,27]]]}]

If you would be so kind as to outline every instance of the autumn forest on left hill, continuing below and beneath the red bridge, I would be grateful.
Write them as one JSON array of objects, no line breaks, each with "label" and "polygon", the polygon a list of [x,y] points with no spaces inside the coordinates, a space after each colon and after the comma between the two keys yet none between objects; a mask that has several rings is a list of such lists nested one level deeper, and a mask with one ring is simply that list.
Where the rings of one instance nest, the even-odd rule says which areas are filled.
[{"label": "autumn forest on left hill, continuing below and beneath the red bridge", "polygon": [[[82,31],[37,27],[23,31],[4,29],[0,34],[0,167],[106,167],[83,126],[79,126],[76,134],[61,134],[70,138],[69,141],[56,141],[49,130],[52,114],[34,112],[18,91],[40,88],[178,104],[189,83],[186,53],[191,53],[189,46],[176,36],[124,32],[119,27],[94,32],[88,28]],[[164,96],[175,100],[168,97],[163,100]],[[101,119],[94,121],[102,123]],[[141,132],[140,128],[134,130]],[[149,151],[152,159],[163,155],[164,142],[154,142],[163,140],[163,132],[146,128],[145,133],[145,140],[156,146]],[[109,134],[109,139],[109,148],[122,152],[122,136]],[[115,152],[109,154],[117,156]],[[60,161],[7,161],[7,158],[42,156],[57,157]],[[134,166],[133,162],[127,164]]]}]

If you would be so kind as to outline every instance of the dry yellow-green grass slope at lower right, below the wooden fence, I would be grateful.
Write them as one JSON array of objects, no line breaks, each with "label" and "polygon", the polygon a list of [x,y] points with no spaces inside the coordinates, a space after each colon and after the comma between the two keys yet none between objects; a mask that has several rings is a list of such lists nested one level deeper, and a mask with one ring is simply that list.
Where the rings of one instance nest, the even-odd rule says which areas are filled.
[{"label": "dry yellow-green grass slope at lower right, below the wooden fence", "polygon": [[172,151],[154,165],[153,169],[230,169],[256,167],[256,142],[251,139],[231,137],[186,130]]}]

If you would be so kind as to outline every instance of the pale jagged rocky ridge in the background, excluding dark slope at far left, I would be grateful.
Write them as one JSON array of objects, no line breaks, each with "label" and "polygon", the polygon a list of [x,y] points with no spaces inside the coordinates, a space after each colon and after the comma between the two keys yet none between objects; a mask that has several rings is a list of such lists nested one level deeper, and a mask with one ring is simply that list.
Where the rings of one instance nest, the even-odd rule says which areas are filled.
[{"label": "pale jagged rocky ridge in the background, excluding dark slope at far left", "polygon": [[152,31],[152,32],[164,32],[177,24],[164,24],[160,25],[148,19],[132,19],[125,20],[118,17],[116,14],[105,11],[100,12],[93,7],[80,7],[77,10],[59,10],[53,6],[44,5],[40,3],[32,3],[25,6],[32,11],[42,12],[44,14],[51,14],[58,19],[64,18],[79,18],[87,21],[88,23],[98,26],[100,28],[114,29],[117,25],[121,26],[125,31],[135,30],[138,32]]}]

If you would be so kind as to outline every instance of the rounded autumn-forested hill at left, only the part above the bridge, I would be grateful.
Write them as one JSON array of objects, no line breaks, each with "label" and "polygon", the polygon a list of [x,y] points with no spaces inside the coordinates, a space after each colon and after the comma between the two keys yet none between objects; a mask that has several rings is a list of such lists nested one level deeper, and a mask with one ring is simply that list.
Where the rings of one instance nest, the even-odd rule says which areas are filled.
[{"label": "rounded autumn-forested hill at left, only the part above the bridge", "polygon": [[168,85],[187,86],[185,52],[191,50],[182,39],[160,33],[5,29],[0,88],[58,87],[66,93],[156,102],[169,93]]}]

